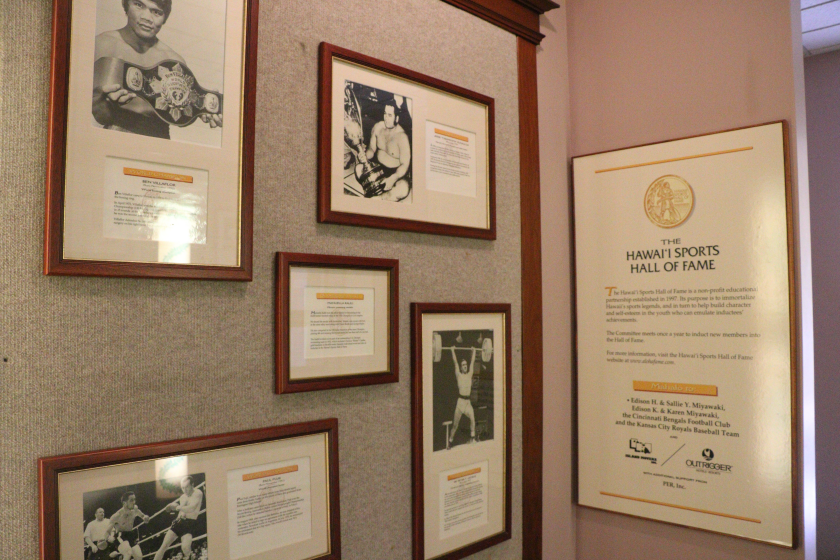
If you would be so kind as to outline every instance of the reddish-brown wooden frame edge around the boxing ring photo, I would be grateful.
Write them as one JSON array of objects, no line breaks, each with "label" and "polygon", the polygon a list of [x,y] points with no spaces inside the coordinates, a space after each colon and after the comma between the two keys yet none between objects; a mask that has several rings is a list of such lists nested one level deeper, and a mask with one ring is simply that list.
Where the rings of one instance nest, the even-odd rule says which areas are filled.
[{"label": "reddish-brown wooden frame edge around the boxing ring photo", "polygon": [[58,475],[61,473],[95,467],[109,467],[135,461],[148,461],[170,455],[217,451],[228,447],[279,441],[318,433],[326,433],[329,441],[326,454],[329,462],[327,499],[329,500],[330,516],[330,552],[313,560],[340,560],[341,505],[339,501],[338,419],[336,418],[70,455],[42,457],[38,459],[40,559],[59,560],[60,558],[56,504],[59,497]]}]

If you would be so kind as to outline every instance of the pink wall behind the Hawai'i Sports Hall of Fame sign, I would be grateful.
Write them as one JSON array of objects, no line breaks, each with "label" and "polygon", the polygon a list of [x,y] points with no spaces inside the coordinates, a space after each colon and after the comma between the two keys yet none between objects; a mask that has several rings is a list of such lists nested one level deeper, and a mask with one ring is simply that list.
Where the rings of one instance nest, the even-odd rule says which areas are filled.
[{"label": "pink wall behind the Hawai'i Sports Hall of Fame sign", "polygon": [[[798,242],[806,276],[799,302],[807,339],[800,368],[805,375],[799,382],[806,398],[799,406],[807,419],[813,414],[807,403],[813,375],[810,245],[807,176],[797,181],[796,167],[795,84],[801,80],[801,46],[797,60],[799,37],[792,29],[798,26],[796,8],[798,0],[795,5],[790,0],[569,0],[569,155],[780,119],[791,123],[794,192],[801,184],[798,198],[804,205],[795,212],[805,232]],[[801,443],[808,438],[800,433],[799,439],[803,488],[811,476],[802,472],[812,461],[808,444]],[[804,530],[811,494],[799,495],[798,550],[578,508],[576,558],[811,559],[813,539]]]}]

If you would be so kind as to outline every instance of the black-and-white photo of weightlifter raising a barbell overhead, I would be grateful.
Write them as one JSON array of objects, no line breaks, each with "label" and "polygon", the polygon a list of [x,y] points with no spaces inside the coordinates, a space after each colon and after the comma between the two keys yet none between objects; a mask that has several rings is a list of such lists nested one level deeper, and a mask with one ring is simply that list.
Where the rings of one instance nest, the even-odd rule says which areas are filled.
[{"label": "black-and-white photo of weightlifter raising a barbell overhead", "polygon": [[433,451],[492,440],[493,330],[432,335]]}]

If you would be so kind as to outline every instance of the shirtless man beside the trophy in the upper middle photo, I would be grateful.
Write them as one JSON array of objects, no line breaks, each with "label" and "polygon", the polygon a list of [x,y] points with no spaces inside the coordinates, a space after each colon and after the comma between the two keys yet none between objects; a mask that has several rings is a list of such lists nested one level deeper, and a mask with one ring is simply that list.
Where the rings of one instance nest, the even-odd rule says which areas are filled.
[{"label": "shirtless man beside the trophy in the upper middle photo", "polygon": [[386,177],[381,179],[377,196],[382,200],[399,202],[411,193],[411,144],[408,134],[400,126],[399,110],[393,99],[384,104],[382,120],[373,126],[367,159],[379,163]]}]

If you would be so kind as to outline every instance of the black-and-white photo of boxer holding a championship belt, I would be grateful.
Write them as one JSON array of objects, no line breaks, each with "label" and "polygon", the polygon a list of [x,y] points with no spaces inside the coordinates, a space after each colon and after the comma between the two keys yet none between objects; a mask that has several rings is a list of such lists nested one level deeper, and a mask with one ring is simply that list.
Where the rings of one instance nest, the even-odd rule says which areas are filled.
[{"label": "black-and-white photo of boxer holding a championship belt", "polygon": [[220,147],[226,0],[97,0],[93,125]]}]

